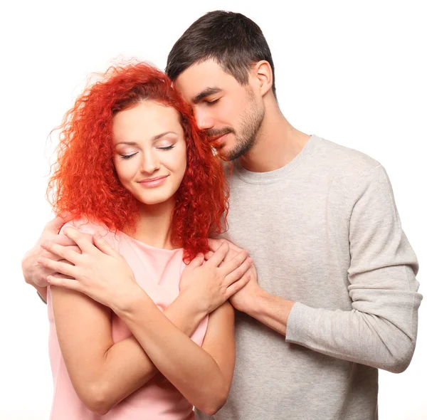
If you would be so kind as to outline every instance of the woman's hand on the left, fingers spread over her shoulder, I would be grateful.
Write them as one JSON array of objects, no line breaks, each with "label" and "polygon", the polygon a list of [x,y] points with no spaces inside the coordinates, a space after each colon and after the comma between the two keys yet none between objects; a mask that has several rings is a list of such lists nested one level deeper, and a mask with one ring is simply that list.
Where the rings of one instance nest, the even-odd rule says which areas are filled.
[{"label": "woman's hand on the left, fingers spread over her shoulder", "polygon": [[[49,275],[48,283],[85,293],[93,300],[113,311],[123,310],[135,296],[139,285],[125,258],[100,236],[93,235],[93,243],[86,233],[65,229],[65,236],[80,248],[81,254],[58,243],[46,241],[41,247],[67,262],[40,257],[41,266],[56,271],[61,276]],[[65,278],[68,276],[68,278]]]}]

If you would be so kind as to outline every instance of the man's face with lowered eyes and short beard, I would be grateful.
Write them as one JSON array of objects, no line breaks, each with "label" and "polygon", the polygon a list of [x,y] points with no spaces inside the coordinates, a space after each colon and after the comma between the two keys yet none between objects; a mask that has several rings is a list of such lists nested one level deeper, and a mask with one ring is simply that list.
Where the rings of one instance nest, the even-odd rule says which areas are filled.
[{"label": "man's face with lowered eyes and short beard", "polygon": [[175,85],[221,156],[233,160],[251,149],[264,117],[263,101],[255,96],[251,79],[240,85],[209,60],[191,65]]}]

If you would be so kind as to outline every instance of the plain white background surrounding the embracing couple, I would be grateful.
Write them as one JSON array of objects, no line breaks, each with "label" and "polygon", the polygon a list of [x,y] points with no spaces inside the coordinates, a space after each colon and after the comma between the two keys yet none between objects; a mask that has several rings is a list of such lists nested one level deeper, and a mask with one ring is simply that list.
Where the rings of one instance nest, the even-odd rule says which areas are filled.
[{"label": "plain white background surrounding the embracing couple", "polygon": [[[90,72],[105,70],[117,56],[164,68],[174,41],[209,10],[240,11],[263,29],[280,106],[292,125],[359,149],[386,167],[421,264],[420,291],[427,294],[425,2],[149,4],[39,0],[0,6],[0,419],[48,419],[50,412],[46,306],[21,275],[23,253],[51,218],[44,194],[56,140],[47,140],[48,133]],[[403,374],[380,374],[380,419],[427,419],[426,314],[424,302],[411,366]]]}]

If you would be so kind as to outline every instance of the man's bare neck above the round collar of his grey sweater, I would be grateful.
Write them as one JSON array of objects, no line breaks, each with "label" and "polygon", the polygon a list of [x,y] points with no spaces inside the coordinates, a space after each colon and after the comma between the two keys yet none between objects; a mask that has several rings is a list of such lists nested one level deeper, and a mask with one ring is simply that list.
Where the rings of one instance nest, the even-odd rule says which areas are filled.
[{"label": "man's bare neck above the round collar of his grey sweater", "polygon": [[294,159],[309,138],[290,125],[275,100],[270,101],[265,105],[265,117],[255,144],[240,162],[251,172],[274,171]]}]

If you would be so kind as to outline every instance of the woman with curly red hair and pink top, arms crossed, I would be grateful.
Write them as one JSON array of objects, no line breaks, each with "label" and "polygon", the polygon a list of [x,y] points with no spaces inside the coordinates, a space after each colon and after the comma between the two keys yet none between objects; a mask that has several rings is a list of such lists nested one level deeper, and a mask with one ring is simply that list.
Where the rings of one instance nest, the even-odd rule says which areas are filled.
[{"label": "woman with curly red hair and pink top, arms crossed", "polygon": [[[223,261],[224,243],[204,263],[226,182],[167,76],[125,65],[85,90],[65,115],[49,191],[79,229],[63,228],[78,247],[45,243],[58,258],[39,259],[63,274],[48,278],[51,419],[214,414],[234,367],[226,300],[251,259]],[[207,305],[218,276],[221,298]]]}]

